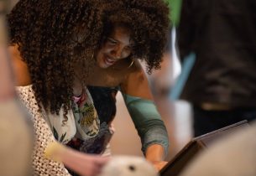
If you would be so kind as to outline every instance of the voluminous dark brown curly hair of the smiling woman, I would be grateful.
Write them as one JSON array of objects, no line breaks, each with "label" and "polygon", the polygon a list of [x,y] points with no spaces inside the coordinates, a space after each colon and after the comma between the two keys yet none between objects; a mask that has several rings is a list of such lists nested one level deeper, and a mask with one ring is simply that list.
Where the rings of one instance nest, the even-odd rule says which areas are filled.
[{"label": "voluminous dark brown curly hair of the smiling woman", "polygon": [[[163,0],[20,0],[8,14],[11,44],[29,67],[36,101],[71,108],[74,63],[85,68],[116,24],[131,30],[131,57],[159,69],[170,21]],[[78,36],[78,37],[76,37]],[[86,79],[86,69],[83,70]],[[41,108],[41,107],[40,107]]]}]

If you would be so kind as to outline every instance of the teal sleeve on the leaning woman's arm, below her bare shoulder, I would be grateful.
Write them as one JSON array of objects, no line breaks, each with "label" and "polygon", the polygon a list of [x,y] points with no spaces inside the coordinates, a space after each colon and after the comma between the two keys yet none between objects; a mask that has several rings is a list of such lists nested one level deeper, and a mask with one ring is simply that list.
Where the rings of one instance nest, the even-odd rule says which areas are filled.
[{"label": "teal sleeve on the leaning woman's arm, below her bare shoulder", "polygon": [[126,94],[123,94],[123,98],[141,139],[143,153],[150,145],[159,144],[165,148],[166,155],[169,137],[154,101]]}]

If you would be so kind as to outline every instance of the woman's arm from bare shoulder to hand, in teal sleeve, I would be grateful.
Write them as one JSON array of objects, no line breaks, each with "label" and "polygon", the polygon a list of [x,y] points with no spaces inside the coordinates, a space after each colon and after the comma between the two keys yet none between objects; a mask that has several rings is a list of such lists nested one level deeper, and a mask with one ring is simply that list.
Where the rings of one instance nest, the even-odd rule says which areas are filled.
[{"label": "woman's arm from bare shoulder to hand, in teal sleeve", "polygon": [[144,70],[138,62],[135,67],[136,70],[122,83],[121,91],[141,138],[145,158],[160,170],[166,164],[164,159],[169,147],[168,133],[154,105]]}]

